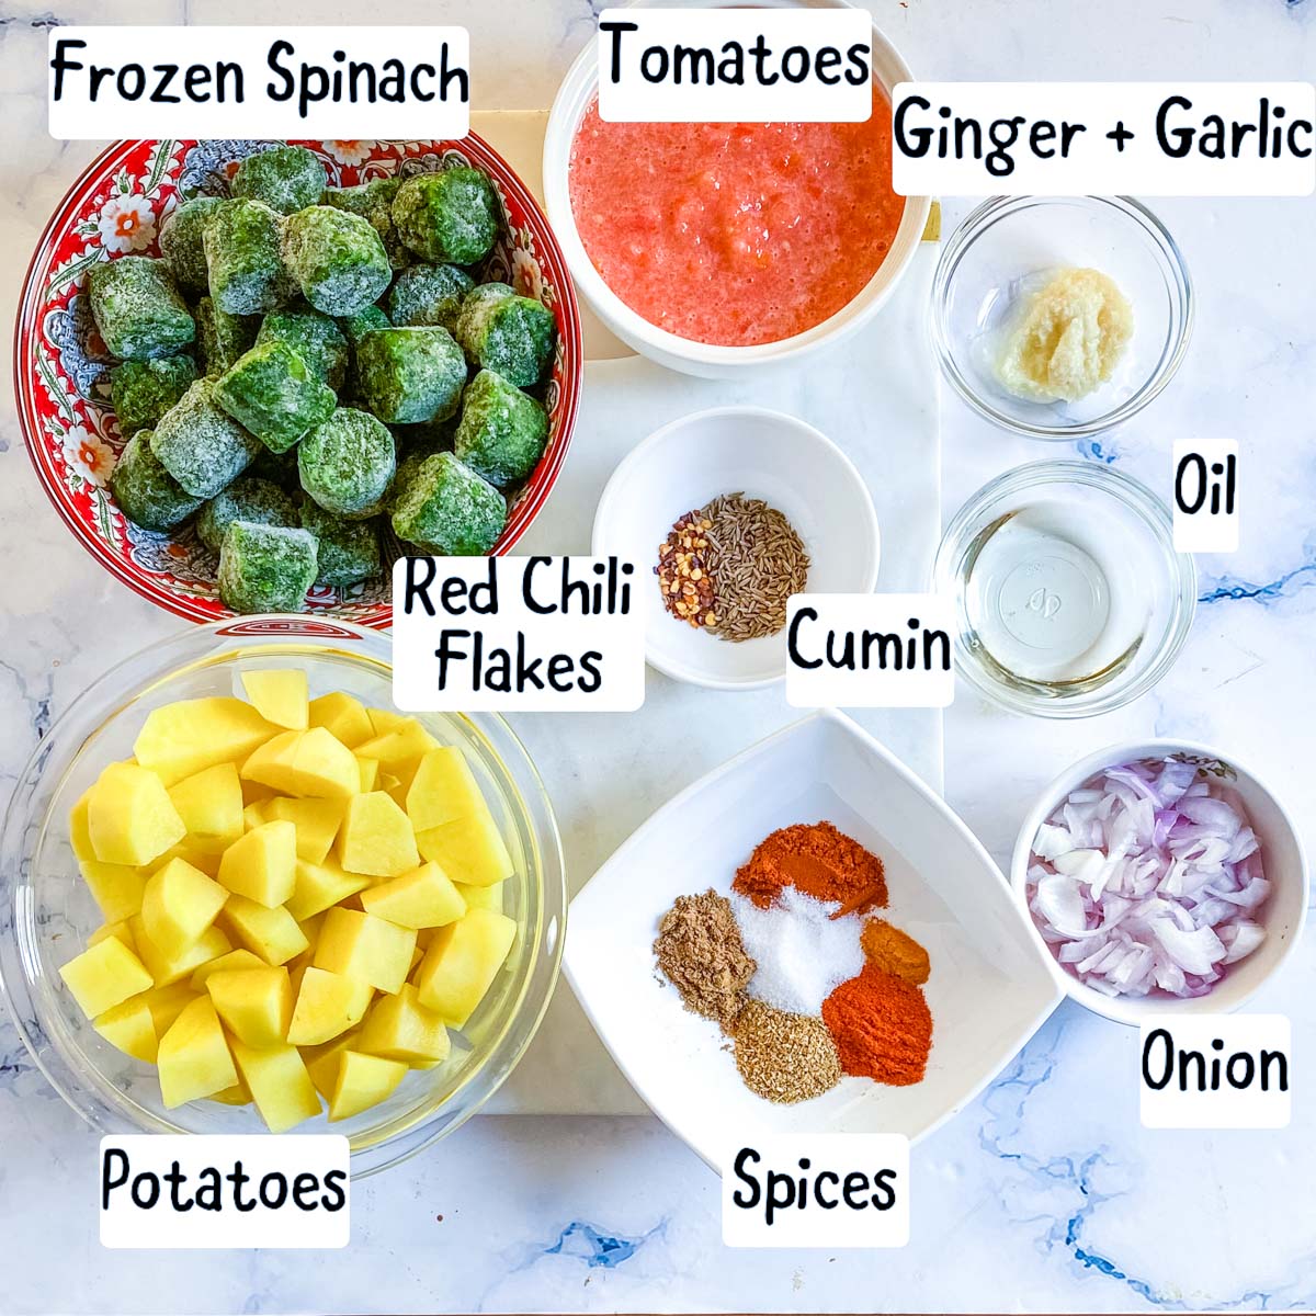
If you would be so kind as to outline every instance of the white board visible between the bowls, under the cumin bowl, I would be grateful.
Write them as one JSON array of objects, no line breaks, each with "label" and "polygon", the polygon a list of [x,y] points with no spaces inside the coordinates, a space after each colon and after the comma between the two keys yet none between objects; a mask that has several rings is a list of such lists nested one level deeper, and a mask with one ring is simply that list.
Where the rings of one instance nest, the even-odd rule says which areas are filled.
[{"label": "white board visible between the bowls, under the cumin bowl", "polygon": [[[546,117],[471,116],[475,132],[537,193]],[[599,495],[640,440],[688,412],[753,403],[809,421],[846,450],[878,509],[878,588],[924,588],[941,532],[937,367],[925,328],[936,257],[936,245],[925,243],[891,301],[858,336],[751,380],[695,379],[663,370],[632,354],[590,317],[590,359],[567,461],[516,551],[588,553]],[[682,511],[674,508],[672,516]],[[780,686],[726,694],[682,686],[650,670],[645,705],[637,713],[509,719],[553,799],[571,895],[659,804],[799,716]],[[854,716],[941,790],[940,712],[874,709]],[[700,890],[705,880],[699,855],[691,854],[690,888]],[[571,990],[559,983],[525,1058],[486,1109],[630,1115],[646,1107],[612,1063]]]}]

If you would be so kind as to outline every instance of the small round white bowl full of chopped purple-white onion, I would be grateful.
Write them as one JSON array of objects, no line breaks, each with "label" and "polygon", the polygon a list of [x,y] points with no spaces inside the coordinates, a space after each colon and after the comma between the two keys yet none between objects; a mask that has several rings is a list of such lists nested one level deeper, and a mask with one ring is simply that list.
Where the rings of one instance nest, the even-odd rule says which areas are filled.
[{"label": "small round white bowl full of chopped purple-white onion", "polygon": [[1307,912],[1288,812],[1187,741],[1112,745],[1062,772],[1024,820],[1011,882],[1055,980],[1121,1024],[1238,1009]]}]

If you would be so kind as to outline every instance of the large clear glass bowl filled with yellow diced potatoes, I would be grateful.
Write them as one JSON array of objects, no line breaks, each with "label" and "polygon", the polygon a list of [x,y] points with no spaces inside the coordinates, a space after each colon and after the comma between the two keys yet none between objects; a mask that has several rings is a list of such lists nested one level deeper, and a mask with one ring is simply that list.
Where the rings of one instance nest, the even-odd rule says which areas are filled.
[{"label": "large clear glass bowl filled with yellow diced potatoes", "polygon": [[258,616],[108,671],[20,776],[0,983],[101,1133],[450,1133],[557,982],[551,804],[494,715],[408,716],[387,638]]}]

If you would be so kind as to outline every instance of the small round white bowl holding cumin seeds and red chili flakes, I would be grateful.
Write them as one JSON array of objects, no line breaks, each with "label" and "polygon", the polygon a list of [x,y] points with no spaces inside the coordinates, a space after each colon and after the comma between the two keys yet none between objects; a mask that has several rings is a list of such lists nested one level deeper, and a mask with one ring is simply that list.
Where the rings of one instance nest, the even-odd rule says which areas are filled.
[{"label": "small round white bowl holding cumin seeds and red chili flakes", "polygon": [[880,537],[854,463],[794,416],[719,407],[665,425],[613,471],[595,554],[650,572],[645,654],[675,680],[755,690],[786,675],[792,594],[869,594]]}]

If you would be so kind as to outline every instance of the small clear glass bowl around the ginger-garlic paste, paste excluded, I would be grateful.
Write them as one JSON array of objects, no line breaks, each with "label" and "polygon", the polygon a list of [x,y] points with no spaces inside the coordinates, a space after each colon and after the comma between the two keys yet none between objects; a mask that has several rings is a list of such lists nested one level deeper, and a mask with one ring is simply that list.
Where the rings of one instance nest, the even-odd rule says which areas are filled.
[{"label": "small clear glass bowl around the ginger-garlic paste, paste excluded", "polygon": [[[1048,271],[1091,267],[1133,307],[1115,375],[1079,401],[1036,403],[995,375],[1011,308]],[[1165,225],[1126,196],[996,196],[950,236],[932,287],[942,374],[979,416],[1026,438],[1074,440],[1120,425],[1174,378],[1192,329],[1192,284]]]}]

